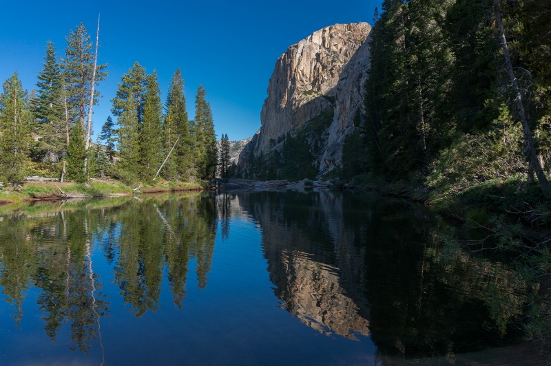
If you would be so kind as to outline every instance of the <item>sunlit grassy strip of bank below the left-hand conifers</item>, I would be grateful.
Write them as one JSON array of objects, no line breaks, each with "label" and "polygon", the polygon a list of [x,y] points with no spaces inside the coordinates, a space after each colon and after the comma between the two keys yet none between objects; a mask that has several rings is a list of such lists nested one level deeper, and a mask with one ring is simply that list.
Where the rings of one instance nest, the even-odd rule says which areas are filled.
[{"label": "sunlit grassy strip of bank below the left-hand conifers", "polygon": [[167,182],[143,184],[131,187],[118,180],[92,179],[87,183],[73,182],[25,182],[15,186],[0,187],[0,204],[16,204],[37,200],[65,200],[86,197],[116,197],[174,191],[203,191],[208,182]]}]

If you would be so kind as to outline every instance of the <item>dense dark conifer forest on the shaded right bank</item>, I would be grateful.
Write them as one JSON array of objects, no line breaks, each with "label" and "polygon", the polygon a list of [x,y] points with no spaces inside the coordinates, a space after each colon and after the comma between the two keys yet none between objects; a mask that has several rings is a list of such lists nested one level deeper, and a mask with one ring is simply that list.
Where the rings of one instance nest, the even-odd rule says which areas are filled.
[{"label": "dense dark conifer forest on the shaded right bank", "polygon": [[514,177],[550,197],[550,18],[549,1],[383,1],[355,165],[437,196]]}]

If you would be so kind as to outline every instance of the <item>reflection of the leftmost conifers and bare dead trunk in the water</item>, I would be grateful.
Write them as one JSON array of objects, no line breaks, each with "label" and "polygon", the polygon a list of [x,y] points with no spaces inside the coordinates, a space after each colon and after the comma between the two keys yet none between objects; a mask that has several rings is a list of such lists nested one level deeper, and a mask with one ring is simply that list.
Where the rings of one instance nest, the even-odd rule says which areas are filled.
[{"label": "reflection of the leftmost conifers and bare dead trunk in the water", "polygon": [[61,211],[32,219],[13,215],[0,230],[0,284],[8,301],[17,305],[16,323],[23,316],[23,293],[31,286],[39,288],[37,305],[46,334],[55,341],[68,323],[70,347],[83,352],[98,341],[100,317],[109,311],[109,303],[101,298],[102,283],[93,272],[89,214]]}]

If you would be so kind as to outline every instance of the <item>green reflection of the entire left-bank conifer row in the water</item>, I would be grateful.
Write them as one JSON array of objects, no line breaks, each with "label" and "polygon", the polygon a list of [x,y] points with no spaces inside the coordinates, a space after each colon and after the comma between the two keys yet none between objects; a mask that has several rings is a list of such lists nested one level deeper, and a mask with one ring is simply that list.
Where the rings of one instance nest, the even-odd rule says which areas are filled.
[{"label": "green reflection of the entire left-bank conifer row in the water", "polygon": [[114,263],[114,283],[138,317],[159,308],[165,266],[180,308],[190,259],[198,286],[207,286],[217,225],[211,197],[45,203],[2,217],[0,286],[11,316],[19,324],[25,294],[37,288],[45,332],[55,341],[68,324],[71,349],[87,352],[101,342],[101,319],[110,312],[92,250]]}]

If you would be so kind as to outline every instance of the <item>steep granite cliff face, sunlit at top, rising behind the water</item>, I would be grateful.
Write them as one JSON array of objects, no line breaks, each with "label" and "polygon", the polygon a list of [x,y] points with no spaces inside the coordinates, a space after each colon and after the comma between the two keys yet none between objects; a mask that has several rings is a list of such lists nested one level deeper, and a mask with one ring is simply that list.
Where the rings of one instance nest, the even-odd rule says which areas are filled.
[{"label": "steep granite cliff face, sunlit at top, rising behind the water", "polygon": [[[352,126],[357,105],[361,105],[369,32],[368,23],[336,24],[291,45],[275,63],[260,112],[262,127],[245,151],[267,155],[287,133],[293,135],[332,108],[335,114],[329,136],[324,139],[323,153],[315,158],[320,174],[337,166],[346,129]],[[246,160],[245,153],[240,155],[242,160]]]}]

